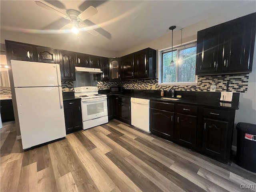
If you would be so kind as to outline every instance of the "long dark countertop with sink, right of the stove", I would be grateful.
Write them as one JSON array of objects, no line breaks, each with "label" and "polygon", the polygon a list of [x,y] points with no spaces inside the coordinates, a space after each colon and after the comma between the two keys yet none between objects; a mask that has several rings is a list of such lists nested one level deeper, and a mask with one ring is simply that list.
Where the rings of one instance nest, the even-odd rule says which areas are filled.
[{"label": "long dark countertop with sink, right of the stove", "polygon": [[[233,93],[232,102],[220,102],[220,92],[194,92],[194,91],[176,91],[175,95],[181,95],[180,100],[163,100],[160,96],[159,90],[124,90],[123,93],[109,93],[109,90],[99,90],[100,94],[106,94],[107,96],[124,96],[134,97],[142,99],[150,99],[152,101],[162,101],[167,103],[181,103],[181,104],[194,104],[208,107],[218,107],[226,109],[239,109],[239,93]],[[164,97],[168,96],[168,93],[164,92]]]}]

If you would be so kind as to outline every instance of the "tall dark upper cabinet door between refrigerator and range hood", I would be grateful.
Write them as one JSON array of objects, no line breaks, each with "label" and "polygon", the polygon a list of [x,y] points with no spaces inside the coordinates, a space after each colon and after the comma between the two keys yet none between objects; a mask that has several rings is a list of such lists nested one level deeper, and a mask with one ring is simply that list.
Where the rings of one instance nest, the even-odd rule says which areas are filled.
[{"label": "tall dark upper cabinet door between refrigerator and range hood", "polygon": [[75,66],[73,65],[72,52],[60,51],[60,71],[62,80],[74,81]]}]

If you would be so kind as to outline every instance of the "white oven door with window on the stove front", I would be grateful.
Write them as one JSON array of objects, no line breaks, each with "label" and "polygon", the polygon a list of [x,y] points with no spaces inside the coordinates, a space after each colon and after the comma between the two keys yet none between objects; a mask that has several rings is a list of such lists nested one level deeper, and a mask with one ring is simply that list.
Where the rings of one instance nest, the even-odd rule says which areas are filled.
[{"label": "white oven door with window on the stove front", "polygon": [[107,98],[92,98],[82,100],[83,121],[108,115]]}]

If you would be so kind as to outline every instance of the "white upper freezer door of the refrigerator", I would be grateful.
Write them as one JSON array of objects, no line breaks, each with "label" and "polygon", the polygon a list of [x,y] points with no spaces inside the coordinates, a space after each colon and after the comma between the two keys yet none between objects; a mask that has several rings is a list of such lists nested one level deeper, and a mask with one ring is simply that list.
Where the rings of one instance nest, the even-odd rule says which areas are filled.
[{"label": "white upper freezer door of the refrigerator", "polygon": [[14,87],[61,86],[60,65],[11,60]]}]

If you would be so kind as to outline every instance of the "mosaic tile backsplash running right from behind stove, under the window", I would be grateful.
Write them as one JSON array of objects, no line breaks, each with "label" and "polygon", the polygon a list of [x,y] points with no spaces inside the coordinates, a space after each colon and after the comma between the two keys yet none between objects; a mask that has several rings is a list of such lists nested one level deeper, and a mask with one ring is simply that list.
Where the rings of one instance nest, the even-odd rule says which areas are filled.
[{"label": "mosaic tile backsplash running right from behind stove, under the window", "polygon": [[98,82],[99,90],[109,89],[110,86],[122,85],[125,89],[150,89],[156,85],[156,90],[167,90],[174,88],[180,91],[210,91],[211,85],[216,85],[216,92],[226,91],[226,83],[229,83],[229,91],[246,92],[248,88],[249,74],[230,74],[218,76],[198,76],[197,85],[158,85],[158,79],[150,80],[126,80],[114,82]]}]

